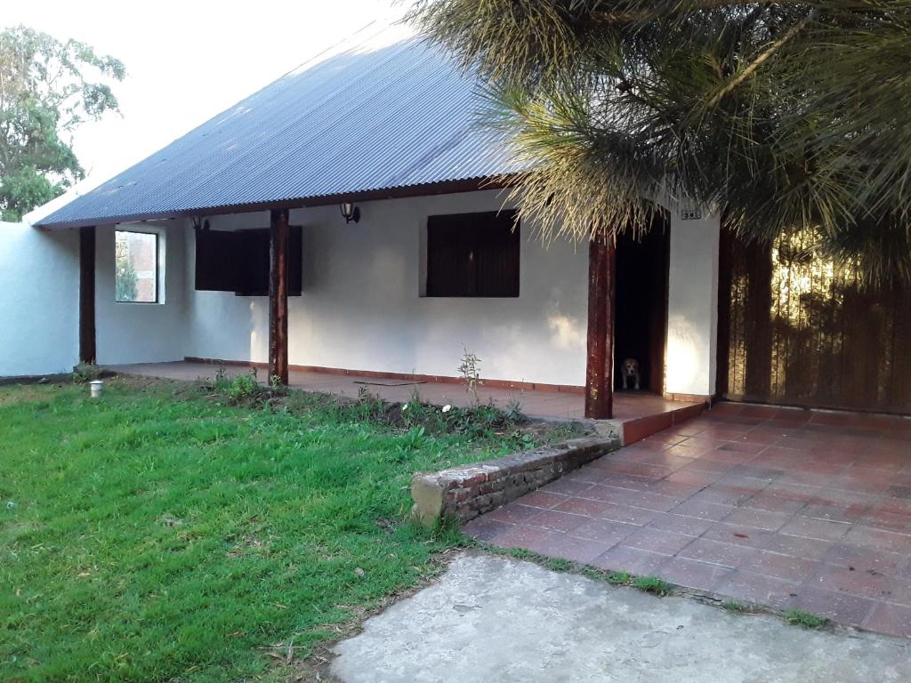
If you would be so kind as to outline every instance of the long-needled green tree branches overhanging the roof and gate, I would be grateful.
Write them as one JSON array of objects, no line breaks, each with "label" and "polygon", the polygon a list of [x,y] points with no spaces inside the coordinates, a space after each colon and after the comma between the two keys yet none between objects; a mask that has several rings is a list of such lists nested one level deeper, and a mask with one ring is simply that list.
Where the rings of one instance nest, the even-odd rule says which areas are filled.
[{"label": "long-needled green tree branches overhanging the roof and gate", "polygon": [[646,230],[686,198],[911,281],[911,0],[419,0],[409,19],[488,84],[546,237]]}]

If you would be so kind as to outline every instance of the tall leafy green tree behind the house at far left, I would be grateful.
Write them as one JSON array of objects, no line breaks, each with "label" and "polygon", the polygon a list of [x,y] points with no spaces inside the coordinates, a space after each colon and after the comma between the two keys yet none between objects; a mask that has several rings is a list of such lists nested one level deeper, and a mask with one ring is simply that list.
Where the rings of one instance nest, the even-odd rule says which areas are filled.
[{"label": "tall leafy green tree behind the house at far left", "polygon": [[76,40],[16,26],[0,32],[0,218],[18,220],[85,173],[72,133],[118,111],[123,64]]}]

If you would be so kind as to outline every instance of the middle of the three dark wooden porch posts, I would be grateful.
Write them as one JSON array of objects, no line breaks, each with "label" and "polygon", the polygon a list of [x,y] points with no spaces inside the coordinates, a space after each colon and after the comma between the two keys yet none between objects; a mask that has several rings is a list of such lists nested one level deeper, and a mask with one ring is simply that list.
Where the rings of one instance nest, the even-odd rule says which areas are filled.
[{"label": "middle of the three dark wooden porch posts", "polygon": [[272,209],[269,230],[269,379],[288,383],[288,209]]}]

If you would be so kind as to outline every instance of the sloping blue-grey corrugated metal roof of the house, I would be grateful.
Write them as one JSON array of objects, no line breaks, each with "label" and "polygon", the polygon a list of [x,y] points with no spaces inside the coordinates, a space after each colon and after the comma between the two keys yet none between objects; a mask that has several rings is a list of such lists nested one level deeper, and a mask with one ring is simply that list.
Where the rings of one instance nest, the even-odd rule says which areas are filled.
[{"label": "sloping blue-grey corrugated metal roof of the house", "polygon": [[389,44],[390,31],[361,32],[37,224],[228,212],[520,170],[507,136],[477,124],[476,82],[415,37]]}]

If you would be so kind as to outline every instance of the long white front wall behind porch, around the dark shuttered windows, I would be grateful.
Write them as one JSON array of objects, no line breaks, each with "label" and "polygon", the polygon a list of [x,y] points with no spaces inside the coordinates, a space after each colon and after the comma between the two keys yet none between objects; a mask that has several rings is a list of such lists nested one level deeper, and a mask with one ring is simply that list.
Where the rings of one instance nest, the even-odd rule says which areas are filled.
[{"label": "long white front wall behind porch, around the dark shuttered windows", "polygon": [[[522,226],[518,298],[422,297],[428,215],[500,209],[494,190],[363,202],[345,224],[335,206],[297,209],[303,296],[289,300],[289,360],[353,370],[455,375],[467,349],[482,374],[554,384],[585,382],[588,250],[544,247]],[[268,213],[211,219],[213,229],[261,228]],[[188,263],[193,236],[188,231]],[[268,359],[265,297],[191,291],[189,356]]]}]

